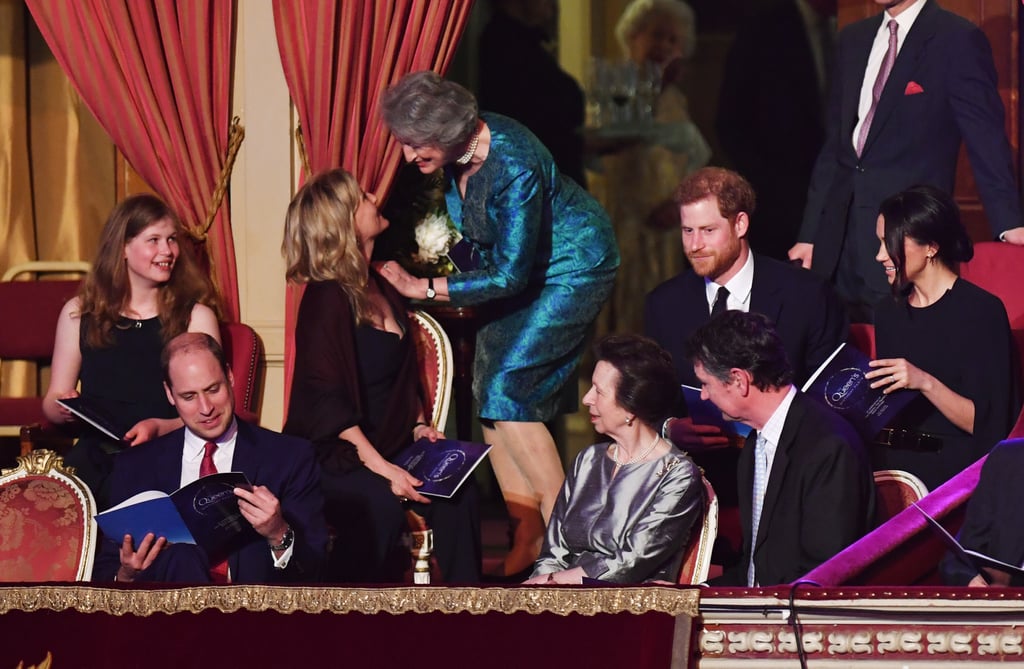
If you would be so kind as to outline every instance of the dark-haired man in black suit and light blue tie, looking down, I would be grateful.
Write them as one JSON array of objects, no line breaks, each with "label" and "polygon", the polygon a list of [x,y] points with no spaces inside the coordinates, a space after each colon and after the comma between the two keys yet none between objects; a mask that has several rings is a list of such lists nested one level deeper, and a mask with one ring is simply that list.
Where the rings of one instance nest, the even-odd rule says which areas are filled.
[{"label": "dark-haired man in black suit and light blue tie, looking down", "polygon": [[767,318],[725,311],[686,346],[701,398],[756,431],[736,482],[743,548],[719,584],[790,583],[870,527],[874,483],[854,428],[799,392]]}]

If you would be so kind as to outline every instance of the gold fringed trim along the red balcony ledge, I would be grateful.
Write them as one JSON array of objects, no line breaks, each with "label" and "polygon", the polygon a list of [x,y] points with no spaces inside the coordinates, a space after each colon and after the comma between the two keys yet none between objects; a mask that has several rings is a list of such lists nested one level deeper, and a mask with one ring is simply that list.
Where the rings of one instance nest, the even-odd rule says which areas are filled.
[{"label": "gold fringed trim along the red balcony ledge", "polygon": [[215,610],[334,614],[553,613],[697,616],[698,588],[338,588],[234,585],[123,590],[96,586],[0,588],[0,614],[9,611],[78,611],[114,616],[199,613]]}]

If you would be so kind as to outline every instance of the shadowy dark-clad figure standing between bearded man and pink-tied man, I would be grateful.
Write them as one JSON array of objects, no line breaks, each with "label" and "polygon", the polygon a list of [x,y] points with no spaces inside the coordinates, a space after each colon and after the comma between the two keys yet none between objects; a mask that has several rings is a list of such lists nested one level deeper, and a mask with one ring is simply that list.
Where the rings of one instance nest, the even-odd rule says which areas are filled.
[{"label": "shadowy dark-clad figure standing between bearded man and pink-tied man", "polygon": [[758,194],[751,245],[780,260],[824,142],[835,31],[836,0],[775,0],[740,26],[722,74],[718,138]]}]

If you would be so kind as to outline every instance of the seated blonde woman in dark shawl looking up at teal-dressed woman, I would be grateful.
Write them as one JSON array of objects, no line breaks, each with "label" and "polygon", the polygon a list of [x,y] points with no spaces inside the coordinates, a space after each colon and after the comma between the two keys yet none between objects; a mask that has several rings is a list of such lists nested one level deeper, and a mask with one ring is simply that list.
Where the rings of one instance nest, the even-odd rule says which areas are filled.
[{"label": "seated blonde woman in dark shawl looking up at teal-dressed woman", "polygon": [[323,172],[295,194],[282,250],[288,280],[304,284],[295,325],[295,374],[284,431],[316,448],[328,520],[336,532],[328,580],[401,580],[403,504],[427,518],[446,582],[480,573],[476,489],[427,499],[390,458],[416,440],[444,435],[424,412],[416,347],[401,296],[370,258],[388,221],[377,199],[343,169]]}]

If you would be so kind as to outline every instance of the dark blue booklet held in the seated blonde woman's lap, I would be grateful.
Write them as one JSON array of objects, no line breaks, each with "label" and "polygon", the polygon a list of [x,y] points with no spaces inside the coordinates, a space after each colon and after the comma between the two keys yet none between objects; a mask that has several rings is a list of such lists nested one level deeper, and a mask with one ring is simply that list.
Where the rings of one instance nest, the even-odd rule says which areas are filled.
[{"label": "dark blue booklet held in the seated blonde woman's lap", "polygon": [[391,461],[423,482],[417,492],[447,498],[456,494],[489,451],[487,444],[422,438]]}]

